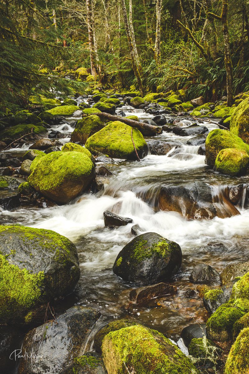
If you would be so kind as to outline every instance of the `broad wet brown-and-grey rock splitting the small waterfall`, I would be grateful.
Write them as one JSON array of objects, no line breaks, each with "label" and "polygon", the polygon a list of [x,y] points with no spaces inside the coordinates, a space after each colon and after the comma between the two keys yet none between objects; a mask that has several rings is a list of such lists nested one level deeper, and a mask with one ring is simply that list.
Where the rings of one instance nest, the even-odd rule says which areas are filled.
[{"label": "broad wet brown-and-grey rock splitting the small waterfall", "polygon": [[179,212],[189,219],[212,219],[217,215],[212,203],[212,189],[203,182],[162,187],[158,205],[164,211]]}]

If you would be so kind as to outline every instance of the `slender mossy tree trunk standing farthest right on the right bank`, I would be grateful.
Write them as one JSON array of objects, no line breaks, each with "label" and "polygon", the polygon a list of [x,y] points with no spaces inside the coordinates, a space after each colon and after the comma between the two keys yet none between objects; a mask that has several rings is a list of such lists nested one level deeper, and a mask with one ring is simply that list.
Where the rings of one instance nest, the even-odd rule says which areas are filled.
[{"label": "slender mossy tree trunk standing farthest right on the right bank", "polygon": [[221,22],[225,46],[225,69],[227,71],[227,106],[233,105],[233,65],[231,61],[230,38],[228,30],[228,0],[222,0]]}]

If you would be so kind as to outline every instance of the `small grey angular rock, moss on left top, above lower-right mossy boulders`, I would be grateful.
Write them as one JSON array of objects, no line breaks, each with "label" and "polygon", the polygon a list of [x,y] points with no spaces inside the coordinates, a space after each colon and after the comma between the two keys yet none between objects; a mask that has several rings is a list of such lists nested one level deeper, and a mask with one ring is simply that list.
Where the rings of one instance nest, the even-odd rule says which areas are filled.
[{"label": "small grey angular rock, moss on left top, above lower-right mossy boulders", "polygon": [[219,306],[226,303],[232,294],[233,283],[230,282],[222,288],[211,289],[203,296],[203,304],[209,313],[214,313]]}]

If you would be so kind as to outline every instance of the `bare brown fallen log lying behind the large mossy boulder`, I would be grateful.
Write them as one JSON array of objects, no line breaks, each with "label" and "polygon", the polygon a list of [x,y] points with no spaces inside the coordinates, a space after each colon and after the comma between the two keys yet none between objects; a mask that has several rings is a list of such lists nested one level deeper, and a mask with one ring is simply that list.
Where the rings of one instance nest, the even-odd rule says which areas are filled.
[{"label": "bare brown fallen log lying behind the large mossy boulder", "polygon": [[[137,128],[145,136],[162,134],[162,128],[160,126],[149,125],[148,123],[134,121],[133,119],[126,118],[126,117],[113,116],[112,114],[109,114],[109,113],[94,113],[94,114],[96,114],[96,116],[104,120],[106,119],[109,121],[124,122],[126,123],[126,125]],[[87,114],[83,115],[83,117],[86,117],[86,116]]]}]

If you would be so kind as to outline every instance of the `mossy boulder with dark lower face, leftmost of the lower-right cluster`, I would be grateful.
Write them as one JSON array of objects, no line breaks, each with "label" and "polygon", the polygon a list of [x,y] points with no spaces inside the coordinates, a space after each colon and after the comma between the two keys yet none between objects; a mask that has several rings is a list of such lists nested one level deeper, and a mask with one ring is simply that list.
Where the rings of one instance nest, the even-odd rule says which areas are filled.
[{"label": "mossy boulder with dark lower face, leftmost of the lower-right cluster", "polygon": [[231,341],[235,322],[247,312],[249,312],[248,299],[238,298],[221,305],[207,321],[208,338],[219,342]]}]

